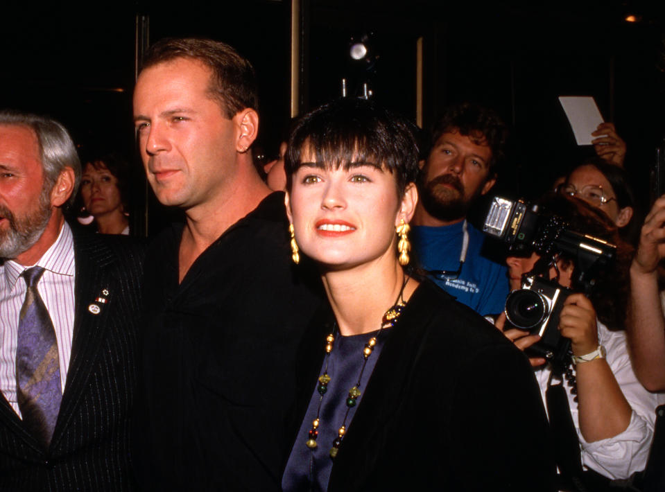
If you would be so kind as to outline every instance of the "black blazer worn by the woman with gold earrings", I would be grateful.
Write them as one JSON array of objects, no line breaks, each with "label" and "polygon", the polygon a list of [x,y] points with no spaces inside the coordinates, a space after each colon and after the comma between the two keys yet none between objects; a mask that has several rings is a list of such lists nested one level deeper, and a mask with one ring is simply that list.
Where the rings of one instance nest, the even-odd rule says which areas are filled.
[{"label": "black blazer worn by the woman with gold earrings", "polygon": [[[328,329],[320,322],[303,340],[297,426],[319,376]],[[547,434],[524,354],[425,282],[383,346],[328,490],[551,491],[555,466]],[[297,436],[295,446],[305,440]]]}]

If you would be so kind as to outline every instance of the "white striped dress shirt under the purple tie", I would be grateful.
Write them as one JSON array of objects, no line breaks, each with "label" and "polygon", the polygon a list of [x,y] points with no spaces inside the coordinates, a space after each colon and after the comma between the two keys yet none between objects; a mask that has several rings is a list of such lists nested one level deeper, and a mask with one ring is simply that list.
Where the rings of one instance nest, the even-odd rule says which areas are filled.
[{"label": "white striped dress shirt under the purple tie", "polygon": [[[55,339],[58,342],[60,362],[60,387],[64,391],[67,368],[71,354],[71,337],[74,333],[74,238],[67,222],[58,239],[31,266],[44,268],[37,283],[37,291],[49,311]],[[26,298],[26,282],[21,273],[30,267],[15,261],[0,265],[0,389],[21,416],[16,398],[16,349],[19,329],[19,313]]]}]

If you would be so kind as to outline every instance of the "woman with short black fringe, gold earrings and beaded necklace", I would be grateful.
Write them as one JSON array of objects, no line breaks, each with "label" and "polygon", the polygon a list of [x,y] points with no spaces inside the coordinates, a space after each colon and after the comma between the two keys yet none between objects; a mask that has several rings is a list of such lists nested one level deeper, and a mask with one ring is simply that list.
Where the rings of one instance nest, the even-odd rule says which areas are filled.
[{"label": "woman with short black fringe, gold earrings and beaded necklace", "polygon": [[316,264],[329,306],[302,340],[282,487],[552,490],[526,358],[405,268],[417,156],[413,126],[367,100],[319,107],[291,134],[293,260]]}]

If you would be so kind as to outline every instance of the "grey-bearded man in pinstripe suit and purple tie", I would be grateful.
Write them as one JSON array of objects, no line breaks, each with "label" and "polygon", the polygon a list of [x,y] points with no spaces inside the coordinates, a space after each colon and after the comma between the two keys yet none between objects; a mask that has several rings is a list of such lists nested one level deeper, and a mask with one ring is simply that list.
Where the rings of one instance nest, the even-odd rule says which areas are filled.
[{"label": "grey-bearded man in pinstripe suit and purple tie", "polygon": [[143,250],[74,234],[67,130],[0,112],[0,489],[128,491]]}]

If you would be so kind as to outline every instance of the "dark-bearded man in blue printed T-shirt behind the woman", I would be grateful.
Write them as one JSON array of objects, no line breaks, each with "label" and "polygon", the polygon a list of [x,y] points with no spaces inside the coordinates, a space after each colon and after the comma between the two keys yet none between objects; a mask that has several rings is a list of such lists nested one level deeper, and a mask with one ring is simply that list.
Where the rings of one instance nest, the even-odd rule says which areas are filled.
[{"label": "dark-bearded man in blue printed T-shirt behind the woman", "polygon": [[467,211],[496,182],[508,130],[490,109],[460,104],[433,129],[418,184],[413,246],[420,265],[441,288],[481,315],[503,311],[506,267],[485,256],[483,234]]}]

